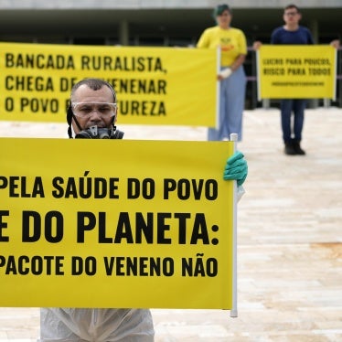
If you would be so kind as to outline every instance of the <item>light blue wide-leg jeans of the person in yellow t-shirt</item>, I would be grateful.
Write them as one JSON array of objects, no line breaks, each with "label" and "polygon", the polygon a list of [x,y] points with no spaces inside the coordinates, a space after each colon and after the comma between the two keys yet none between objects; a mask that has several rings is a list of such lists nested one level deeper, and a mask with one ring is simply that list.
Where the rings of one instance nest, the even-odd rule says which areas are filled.
[{"label": "light blue wide-leg jeans of the person in yellow t-shirt", "polygon": [[220,141],[237,133],[242,139],[242,112],[245,104],[246,75],[242,66],[228,79],[220,81],[219,87],[219,128],[208,129],[209,141]]}]

